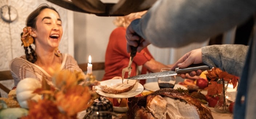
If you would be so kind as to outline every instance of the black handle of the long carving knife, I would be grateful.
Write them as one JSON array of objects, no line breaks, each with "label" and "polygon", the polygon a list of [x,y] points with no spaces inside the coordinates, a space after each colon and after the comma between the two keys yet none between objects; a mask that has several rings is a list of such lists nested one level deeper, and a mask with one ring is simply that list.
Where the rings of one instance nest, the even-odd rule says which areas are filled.
[{"label": "black handle of the long carving knife", "polygon": [[203,63],[199,63],[199,64],[192,64],[184,69],[179,69],[179,68],[175,68],[175,72],[177,72],[177,74],[186,74],[186,73],[190,73],[191,71],[197,71],[197,70],[210,70],[210,67],[207,66],[206,64]]}]

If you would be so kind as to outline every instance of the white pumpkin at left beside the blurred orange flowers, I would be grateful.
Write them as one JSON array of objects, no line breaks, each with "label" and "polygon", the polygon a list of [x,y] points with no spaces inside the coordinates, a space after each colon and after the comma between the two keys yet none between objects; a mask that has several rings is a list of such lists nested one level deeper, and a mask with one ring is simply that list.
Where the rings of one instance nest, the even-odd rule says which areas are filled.
[{"label": "white pumpkin at left beside the blurred orange flowers", "polygon": [[28,109],[27,100],[38,101],[41,99],[41,95],[33,93],[35,89],[40,88],[41,84],[37,79],[34,78],[25,78],[20,80],[16,88],[16,97],[22,108]]}]

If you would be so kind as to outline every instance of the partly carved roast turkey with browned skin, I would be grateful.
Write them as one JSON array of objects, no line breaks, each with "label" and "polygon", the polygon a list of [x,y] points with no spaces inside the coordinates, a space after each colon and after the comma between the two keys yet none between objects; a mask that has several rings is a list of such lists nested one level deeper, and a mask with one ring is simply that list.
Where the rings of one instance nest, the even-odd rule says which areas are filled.
[{"label": "partly carved roast turkey with browned skin", "polygon": [[200,101],[172,88],[128,98],[128,106],[128,119],[213,119]]}]

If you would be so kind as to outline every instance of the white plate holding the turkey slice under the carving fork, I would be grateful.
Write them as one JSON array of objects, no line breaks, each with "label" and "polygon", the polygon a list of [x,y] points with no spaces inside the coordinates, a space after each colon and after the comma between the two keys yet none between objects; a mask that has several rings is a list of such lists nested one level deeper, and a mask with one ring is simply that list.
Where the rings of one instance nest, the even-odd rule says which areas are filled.
[{"label": "white plate holding the turkey slice under the carving fork", "polygon": [[[117,83],[122,83],[122,79],[105,80],[105,81],[101,82],[101,85],[107,85],[108,87],[110,87]],[[95,89],[96,93],[98,93],[99,95],[104,96],[104,97],[129,98],[129,97],[137,96],[138,94],[142,93],[142,91],[144,90],[144,87],[140,83],[136,82],[136,84],[130,91],[123,92],[123,93],[117,93],[117,94],[103,92],[103,91],[101,91],[101,88],[99,86],[95,86],[94,89]]]}]

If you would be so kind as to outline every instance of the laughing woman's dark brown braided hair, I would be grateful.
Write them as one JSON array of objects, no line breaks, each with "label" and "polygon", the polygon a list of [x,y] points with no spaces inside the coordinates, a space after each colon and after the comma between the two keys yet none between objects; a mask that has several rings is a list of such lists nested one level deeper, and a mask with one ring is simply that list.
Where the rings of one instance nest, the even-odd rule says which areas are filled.
[{"label": "laughing woman's dark brown braided hair", "polygon": [[[30,26],[34,29],[36,29],[36,20],[37,20],[37,16],[41,13],[42,10],[44,9],[52,9],[54,11],[57,12],[57,10],[53,7],[50,7],[48,4],[42,4],[40,5],[36,10],[34,10],[32,13],[29,14],[28,18],[27,18],[27,26]],[[57,12],[58,13],[58,12]],[[59,14],[59,13],[58,13]],[[23,32],[21,33],[21,36],[23,35]],[[33,38],[34,39],[34,38]],[[33,44],[35,43],[35,40],[33,42]],[[34,51],[34,49],[31,47],[31,45],[29,45],[29,49],[30,49],[30,52],[28,52],[28,47],[24,47],[25,49],[25,54],[26,54],[26,59],[29,61],[29,62],[36,62],[37,60],[37,56],[36,56],[36,52]]]}]

